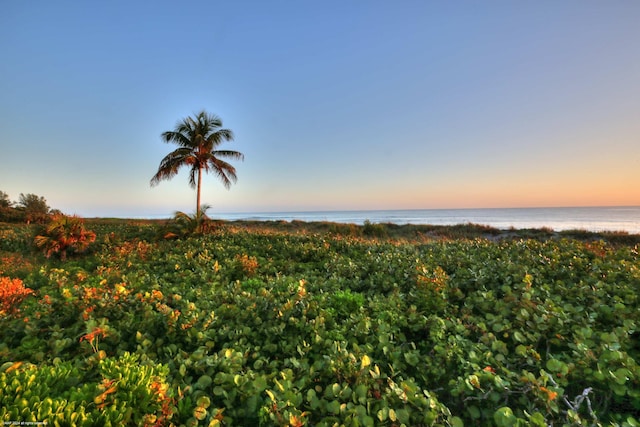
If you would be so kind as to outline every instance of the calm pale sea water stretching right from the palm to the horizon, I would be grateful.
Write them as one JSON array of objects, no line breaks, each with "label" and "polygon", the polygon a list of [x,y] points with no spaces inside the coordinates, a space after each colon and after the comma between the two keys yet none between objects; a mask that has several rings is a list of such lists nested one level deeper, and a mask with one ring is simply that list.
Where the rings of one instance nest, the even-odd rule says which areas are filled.
[{"label": "calm pale sea water stretching right from the palm to the horizon", "polygon": [[556,231],[626,231],[640,234],[640,206],[511,209],[416,209],[377,211],[318,211],[216,214],[226,220],[331,221],[363,224],[483,224],[499,229],[542,228]]}]

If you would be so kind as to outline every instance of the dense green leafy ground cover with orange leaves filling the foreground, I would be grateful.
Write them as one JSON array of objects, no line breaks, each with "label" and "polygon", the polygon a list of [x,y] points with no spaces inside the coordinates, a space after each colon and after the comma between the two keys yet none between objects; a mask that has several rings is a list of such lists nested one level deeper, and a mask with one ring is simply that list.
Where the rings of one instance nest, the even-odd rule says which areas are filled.
[{"label": "dense green leafy ground cover with orange leaves filling the foreground", "polygon": [[61,261],[0,224],[0,420],[640,424],[637,245],[293,225],[95,222]]}]

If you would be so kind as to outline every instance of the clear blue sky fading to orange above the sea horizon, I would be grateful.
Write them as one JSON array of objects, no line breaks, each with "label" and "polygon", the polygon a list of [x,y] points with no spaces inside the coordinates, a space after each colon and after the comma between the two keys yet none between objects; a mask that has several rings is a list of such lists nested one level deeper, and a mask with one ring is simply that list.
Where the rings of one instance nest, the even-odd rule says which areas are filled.
[{"label": "clear blue sky fading to orange above the sea horizon", "polygon": [[150,179],[201,110],[216,212],[640,205],[640,2],[4,0],[0,191],[195,211]]}]

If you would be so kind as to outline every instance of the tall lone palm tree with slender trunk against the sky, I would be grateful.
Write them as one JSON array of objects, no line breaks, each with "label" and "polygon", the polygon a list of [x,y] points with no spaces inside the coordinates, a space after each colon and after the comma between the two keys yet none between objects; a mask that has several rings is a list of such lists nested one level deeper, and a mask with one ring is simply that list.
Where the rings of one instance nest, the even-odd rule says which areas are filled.
[{"label": "tall lone palm tree with slender trunk against the sky", "polygon": [[222,158],[244,160],[244,155],[238,151],[217,149],[224,141],[233,141],[233,132],[222,129],[222,120],[215,114],[201,111],[195,117],[186,117],[176,124],[174,130],[164,132],[162,139],[177,144],[178,148],[162,159],[158,172],[151,178],[151,186],[173,178],[182,166],[188,166],[189,185],[197,188],[197,216],[200,214],[202,172],[213,172],[226,188],[238,180],[236,168]]}]

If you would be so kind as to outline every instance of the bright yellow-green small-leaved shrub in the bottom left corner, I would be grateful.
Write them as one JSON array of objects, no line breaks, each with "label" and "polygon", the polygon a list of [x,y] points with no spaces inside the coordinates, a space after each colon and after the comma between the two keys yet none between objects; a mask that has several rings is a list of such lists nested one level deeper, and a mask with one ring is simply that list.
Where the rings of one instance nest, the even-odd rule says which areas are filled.
[{"label": "bright yellow-green small-leaved shrub in the bottom left corner", "polygon": [[16,425],[170,425],[175,406],[167,367],[125,352],[99,361],[97,376],[94,371],[70,362],[4,363],[0,419]]}]

